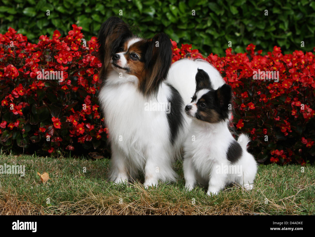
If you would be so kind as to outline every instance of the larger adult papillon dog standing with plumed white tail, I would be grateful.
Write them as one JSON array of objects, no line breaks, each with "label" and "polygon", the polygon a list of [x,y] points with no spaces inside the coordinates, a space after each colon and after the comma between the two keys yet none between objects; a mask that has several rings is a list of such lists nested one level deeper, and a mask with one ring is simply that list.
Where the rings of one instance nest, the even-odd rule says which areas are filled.
[{"label": "larger adult papillon dog standing with plumed white tail", "polygon": [[180,154],[190,118],[185,105],[202,68],[215,85],[220,73],[205,61],[180,60],[172,66],[172,44],[160,33],[153,39],[132,34],[120,18],[110,17],[98,35],[100,108],[111,143],[111,180],[134,180],[144,173],[147,186],[175,181],[172,163]]}]

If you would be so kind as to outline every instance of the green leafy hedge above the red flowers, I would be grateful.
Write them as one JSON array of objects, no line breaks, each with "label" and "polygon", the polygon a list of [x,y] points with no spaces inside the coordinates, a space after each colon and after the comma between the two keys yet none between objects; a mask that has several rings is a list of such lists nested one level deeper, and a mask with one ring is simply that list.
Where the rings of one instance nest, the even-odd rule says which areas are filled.
[{"label": "green leafy hedge above the red flowers", "polygon": [[[204,55],[224,55],[228,41],[235,52],[253,43],[264,52],[277,45],[284,53],[312,51],[315,46],[315,2],[209,0],[1,0],[0,33],[11,26],[36,42],[40,35],[63,35],[72,24],[83,27],[89,40],[108,17],[119,16],[134,26],[134,32],[152,37],[164,31],[177,43],[193,44]],[[50,15],[46,15],[46,11]],[[195,10],[195,16],[192,15]],[[265,16],[268,10],[268,16]],[[305,47],[301,47],[304,41]]]}]

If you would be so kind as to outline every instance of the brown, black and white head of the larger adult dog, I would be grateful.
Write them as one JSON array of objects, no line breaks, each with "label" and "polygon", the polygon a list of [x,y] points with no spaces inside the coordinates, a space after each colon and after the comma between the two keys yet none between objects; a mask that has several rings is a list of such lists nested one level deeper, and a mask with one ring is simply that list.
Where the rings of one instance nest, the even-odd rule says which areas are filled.
[{"label": "brown, black and white head of the larger adult dog", "polygon": [[[120,22],[115,19],[116,21]],[[172,44],[169,37],[164,33],[159,33],[151,40],[146,40],[135,37],[130,31],[114,30],[112,32],[115,22],[112,24],[106,22],[99,33],[99,58],[106,56],[100,70],[101,80],[107,79],[105,73],[110,71],[108,67],[112,67],[119,76],[123,73],[127,80],[135,81],[142,95],[156,94],[159,85],[167,77],[172,62]],[[121,32],[121,35],[117,35],[117,32]],[[113,40],[113,45],[108,44],[109,39]],[[124,77],[119,79],[124,79]]]}]

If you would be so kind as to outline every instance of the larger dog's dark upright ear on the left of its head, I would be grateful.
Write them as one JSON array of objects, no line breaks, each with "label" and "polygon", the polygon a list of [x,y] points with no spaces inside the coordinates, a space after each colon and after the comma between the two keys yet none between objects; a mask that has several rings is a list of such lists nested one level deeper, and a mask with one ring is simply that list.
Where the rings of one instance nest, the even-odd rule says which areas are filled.
[{"label": "larger dog's dark upright ear on the left of its head", "polygon": [[131,36],[129,26],[118,17],[110,17],[101,25],[98,34],[98,57],[103,63],[102,69],[107,67],[112,54],[123,41]]}]

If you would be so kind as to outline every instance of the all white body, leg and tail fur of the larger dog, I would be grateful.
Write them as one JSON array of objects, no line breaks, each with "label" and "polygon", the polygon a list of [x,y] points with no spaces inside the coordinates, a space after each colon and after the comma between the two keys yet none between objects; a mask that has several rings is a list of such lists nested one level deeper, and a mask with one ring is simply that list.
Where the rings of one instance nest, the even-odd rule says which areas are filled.
[{"label": "all white body, leg and tail fur of the larger dog", "polygon": [[[134,76],[124,73],[119,75],[117,71],[107,76],[99,100],[109,128],[111,179],[114,182],[130,180],[138,170],[145,174],[145,186],[157,185],[158,180],[176,180],[172,163],[180,154],[190,126],[191,118],[184,113],[184,107],[194,94],[198,68],[209,74],[215,88],[224,83],[220,73],[208,62],[189,59],[179,60],[170,67],[168,78],[161,84],[156,97],[143,97],[137,89],[137,78]],[[150,100],[153,103],[168,102],[171,91],[166,83],[178,90],[185,104],[184,128],[173,145],[169,140],[170,128],[165,111],[144,109],[145,103]]]}]

